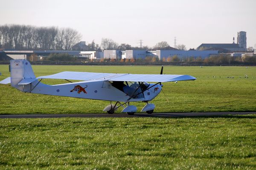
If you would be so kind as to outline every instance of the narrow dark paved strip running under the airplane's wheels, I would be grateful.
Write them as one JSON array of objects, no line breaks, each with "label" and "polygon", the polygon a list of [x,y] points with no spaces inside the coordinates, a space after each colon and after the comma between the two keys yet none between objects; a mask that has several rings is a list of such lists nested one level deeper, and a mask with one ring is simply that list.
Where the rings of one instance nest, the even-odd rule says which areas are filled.
[{"label": "narrow dark paved strip running under the airplane's wheels", "polygon": [[9,114],[0,115],[0,119],[5,118],[61,118],[61,117],[194,117],[194,116],[223,116],[223,115],[245,115],[256,114],[256,112],[208,112],[208,113],[135,113],[128,115],[126,113],[92,113],[92,114]]}]

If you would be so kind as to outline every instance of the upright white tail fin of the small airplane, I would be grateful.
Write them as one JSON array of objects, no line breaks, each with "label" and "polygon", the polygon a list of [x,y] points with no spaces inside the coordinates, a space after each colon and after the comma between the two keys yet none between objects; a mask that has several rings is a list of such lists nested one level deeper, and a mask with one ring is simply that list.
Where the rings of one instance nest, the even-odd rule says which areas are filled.
[{"label": "upright white tail fin of the small airplane", "polygon": [[10,61],[11,85],[20,91],[30,90],[30,83],[36,81],[31,64],[26,59],[12,59]]}]

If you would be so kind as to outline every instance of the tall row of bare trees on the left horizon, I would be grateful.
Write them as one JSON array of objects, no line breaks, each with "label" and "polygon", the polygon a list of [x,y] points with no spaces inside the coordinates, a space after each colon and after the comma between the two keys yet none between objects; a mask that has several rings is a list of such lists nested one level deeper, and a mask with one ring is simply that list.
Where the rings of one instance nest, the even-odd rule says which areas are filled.
[{"label": "tall row of bare trees on the left horizon", "polygon": [[71,50],[81,40],[72,28],[26,25],[0,26],[0,48],[16,50]]}]

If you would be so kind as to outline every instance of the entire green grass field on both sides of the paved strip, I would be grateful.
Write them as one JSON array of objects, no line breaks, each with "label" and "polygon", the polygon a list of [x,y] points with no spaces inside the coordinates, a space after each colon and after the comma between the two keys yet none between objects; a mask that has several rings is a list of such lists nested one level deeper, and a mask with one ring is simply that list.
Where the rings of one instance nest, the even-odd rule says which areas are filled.
[{"label": "entire green grass field on both sides of the paved strip", "polygon": [[[158,66],[32,66],[158,74]],[[9,77],[8,66],[0,65]],[[256,111],[256,67],[175,67],[195,81],[163,83],[156,112]],[[244,78],[247,75],[248,78]],[[234,78],[227,78],[234,77]],[[241,77],[241,78],[239,78]],[[61,81],[44,80],[53,84]],[[103,113],[108,102],[24,94],[0,85],[0,114]],[[143,103],[134,103],[138,110]],[[256,115],[190,118],[0,119],[0,169],[256,169]]]}]

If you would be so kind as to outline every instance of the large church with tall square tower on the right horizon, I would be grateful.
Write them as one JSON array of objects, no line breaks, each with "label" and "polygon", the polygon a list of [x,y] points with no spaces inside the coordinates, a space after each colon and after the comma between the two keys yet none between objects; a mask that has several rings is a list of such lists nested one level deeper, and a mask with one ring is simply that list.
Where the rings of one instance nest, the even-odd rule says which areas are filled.
[{"label": "large church with tall square tower on the right horizon", "polygon": [[237,43],[233,37],[233,43],[224,44],[201,44],[197,50],[209,50],[209,48],[224,48],[231,52],[245,52],[246,51],[246,32],[240,31],[237,33]]}]

